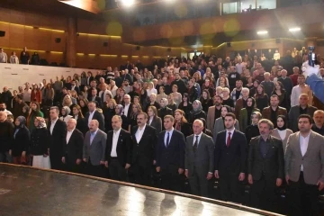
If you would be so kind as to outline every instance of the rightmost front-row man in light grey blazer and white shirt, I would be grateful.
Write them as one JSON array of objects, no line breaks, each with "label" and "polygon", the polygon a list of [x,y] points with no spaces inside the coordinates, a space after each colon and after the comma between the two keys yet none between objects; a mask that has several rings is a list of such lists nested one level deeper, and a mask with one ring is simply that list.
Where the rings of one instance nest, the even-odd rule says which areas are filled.
[{"label": "rightmost front-row man in light grey blazer and white shirt", "polygon": [[284,158],[291,215],[320,215],[319,192],[324,188],[324,137],[311,130],[311,116],[298,118],[299,132],[289,136]]}]

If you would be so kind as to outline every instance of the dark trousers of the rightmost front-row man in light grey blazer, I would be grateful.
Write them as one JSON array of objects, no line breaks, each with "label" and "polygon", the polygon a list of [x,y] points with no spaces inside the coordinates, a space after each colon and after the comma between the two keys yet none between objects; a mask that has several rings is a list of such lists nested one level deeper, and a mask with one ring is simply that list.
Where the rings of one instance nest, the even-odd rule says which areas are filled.
[{"label": "dark trousers of the rightmost front-row man in light grey blazer", "polygon": [[289,202],[290,215],[320,215],[319,186],[306,184],[301,172],[298,182],[289,181]]}]

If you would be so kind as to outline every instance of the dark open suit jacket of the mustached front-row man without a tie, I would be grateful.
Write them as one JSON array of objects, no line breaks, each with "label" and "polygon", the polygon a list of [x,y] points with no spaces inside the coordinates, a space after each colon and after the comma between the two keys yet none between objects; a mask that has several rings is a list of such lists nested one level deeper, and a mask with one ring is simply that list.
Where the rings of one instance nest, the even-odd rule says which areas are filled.
[{"label": "dark open suit jacket of the mustached front-row man without a tie", "polygon": [[150,167],[155,159],[155,148],[157,145],[157,130],[148,124],[145,126],[144,133],[139,140],[136,140],[135,134],[139,126],[134,126],[132,130],[132,158],[131,162],[139,166]]}]

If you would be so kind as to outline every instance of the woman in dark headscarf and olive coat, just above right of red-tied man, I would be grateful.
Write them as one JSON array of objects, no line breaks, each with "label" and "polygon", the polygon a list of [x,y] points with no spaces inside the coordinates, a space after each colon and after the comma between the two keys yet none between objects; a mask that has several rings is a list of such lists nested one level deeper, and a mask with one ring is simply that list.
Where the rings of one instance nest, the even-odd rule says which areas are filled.
[{"label": "woman in dark headscarf and olive coat, just above right of red-tied man", "polygon": [[260,112],[256,108],[256,100],[253,97],[247,97],[247,106],[239,112],[239,130],[245,132],[247,126],[251,124],[251,115],[253,112]]}]

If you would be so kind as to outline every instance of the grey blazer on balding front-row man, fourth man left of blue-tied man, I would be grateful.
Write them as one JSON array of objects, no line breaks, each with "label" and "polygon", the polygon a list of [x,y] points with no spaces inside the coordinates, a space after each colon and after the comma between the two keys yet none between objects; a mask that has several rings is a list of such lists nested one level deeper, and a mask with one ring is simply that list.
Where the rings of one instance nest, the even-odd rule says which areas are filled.
[{"label": "grey blazer on balding front-row man, fourth man left of blue-tied man", "polygon": [[98,129],[94,139],[90,145],[91,132],[85,133],[85,142],[83,146],[83,158],[88,159],[90,157],[91,164],[93,166],[99,166],[100,161],[105,160],[105,149],[107,142],[107,134],[103,130]]}]

